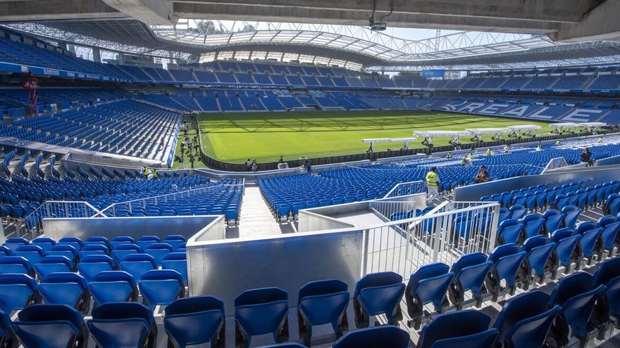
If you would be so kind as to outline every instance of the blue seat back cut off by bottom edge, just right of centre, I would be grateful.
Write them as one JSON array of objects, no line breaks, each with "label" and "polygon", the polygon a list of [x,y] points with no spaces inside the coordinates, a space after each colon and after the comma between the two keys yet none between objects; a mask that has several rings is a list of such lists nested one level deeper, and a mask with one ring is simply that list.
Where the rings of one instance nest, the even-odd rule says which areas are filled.
[{"label": "blue seat back cut off by bottom edge, just right of centre", "polygon": [[333,348],[407,348],[409,333],[396,326],[376,326],[349,331],[334,343]]}]

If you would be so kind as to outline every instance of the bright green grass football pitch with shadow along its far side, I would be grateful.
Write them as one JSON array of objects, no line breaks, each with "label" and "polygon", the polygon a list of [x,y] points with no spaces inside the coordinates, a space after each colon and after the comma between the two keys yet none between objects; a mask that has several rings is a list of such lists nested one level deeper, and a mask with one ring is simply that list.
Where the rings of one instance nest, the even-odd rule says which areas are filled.
[{"label": "bright green grass football pitch with shadow along its far side", "polygon": [[[502,117],[459,115],[434,111],[335,111],[335,112],[235,112],[197,116],[203,150],[225,162],[275,162],[299,157],[328,157],[365,153],[363,138],[411,137],[412,131],[459,131],[468,128],[499,128],[516,124],[539,124],[538,134],[548,134],[544,122]],[[193,132],[192,132],[193,133]],[[484,136],[485,141],[491,135]],[[423,148],[423,139],[409,148]],[[435,146],[448,145],[450,138],[434,138]],[[469,143],[469,138],[461,138]],[[402,143],[378,143],[375,151],[396,150]],[[180,151],[178,151],[178,154]]]}]

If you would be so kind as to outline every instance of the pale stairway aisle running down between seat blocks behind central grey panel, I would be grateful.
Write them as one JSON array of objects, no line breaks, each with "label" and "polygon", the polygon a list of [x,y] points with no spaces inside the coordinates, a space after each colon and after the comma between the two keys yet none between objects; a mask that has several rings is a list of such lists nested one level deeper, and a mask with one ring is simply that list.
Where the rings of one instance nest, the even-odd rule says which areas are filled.
[{"label": "pale stairway aisle running down between seat blocks behind central grey panel", "polygon": [[289,224],[278,224],[271,214],[259,186],[246,183],[239,221],[240,238],[258,238],[291,233]]}]

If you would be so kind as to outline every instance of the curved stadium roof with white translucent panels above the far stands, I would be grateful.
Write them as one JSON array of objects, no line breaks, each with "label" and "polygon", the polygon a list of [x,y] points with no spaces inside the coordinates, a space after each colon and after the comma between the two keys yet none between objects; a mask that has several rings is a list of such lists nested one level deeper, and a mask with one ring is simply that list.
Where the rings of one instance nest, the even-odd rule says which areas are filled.
[{"label": "curved stadium roof with white translucent panels above the far stands", "polygon": [[[492,68],[553,62],[553,65],[618,63],[620,43],[557,43],[545,35],[454,32],[421,40],[402,39],[366,27],[277,23],[268,29],[204,34],[178,25],[145,25],[132,19],[12,23],[16,30],[48,39],[155,56],[262,58],[270,53],[304,56],[306,61],[384,70],[424,67]],[[256,27],[265,27],[259,25]],[[260,54],[253,54],[259,52]],[[607,57],[607,58],[605,58]],[[531,64],[530,64],[531,65]],[[544,63],[538,64],[544,66]]]}]

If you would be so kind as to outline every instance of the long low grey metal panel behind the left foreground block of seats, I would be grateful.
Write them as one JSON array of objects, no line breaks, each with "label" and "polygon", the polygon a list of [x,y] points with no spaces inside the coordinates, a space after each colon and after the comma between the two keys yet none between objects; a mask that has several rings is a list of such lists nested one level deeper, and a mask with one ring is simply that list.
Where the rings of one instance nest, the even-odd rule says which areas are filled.
[{"label": "long low grey metal panel behind the left foreground block of seats", "polygon": [[43,219],[43,229],[49,238],[89,238],[103,236],[138,238],[153,235],[163,238],[171,234],[192,237],[221,216],[194,215],[191,217],[94,217]]}]

